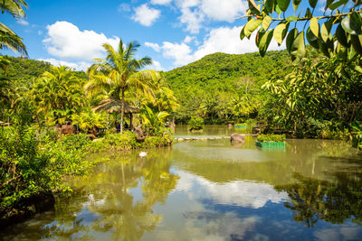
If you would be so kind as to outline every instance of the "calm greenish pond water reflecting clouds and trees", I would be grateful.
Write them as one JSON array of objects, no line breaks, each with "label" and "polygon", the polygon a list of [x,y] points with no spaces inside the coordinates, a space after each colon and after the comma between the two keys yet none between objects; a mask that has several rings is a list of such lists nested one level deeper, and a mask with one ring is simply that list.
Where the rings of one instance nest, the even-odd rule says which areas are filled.
[{"label": "calm greenish pond water reflecting clouds and trees", "polygon": [[[224,136],[225,125],[178,137]],[[261,150],[227,139],[101,153],[69,180],[55,210],[2,231],[4,240],[362,240],[362,157],[339,141],[288,140]],[[145,150],[143,150],[145,151]]]}]

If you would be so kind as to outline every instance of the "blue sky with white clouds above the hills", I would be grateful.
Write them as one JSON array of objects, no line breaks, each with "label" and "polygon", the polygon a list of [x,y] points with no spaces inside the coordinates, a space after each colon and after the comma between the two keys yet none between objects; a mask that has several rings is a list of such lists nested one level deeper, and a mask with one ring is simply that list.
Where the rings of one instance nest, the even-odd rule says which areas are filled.
[{"label": "blue sky with white clouds above the hills", "polygon": [[[15,21],[2,14],[1,22],[24,38],[29,58],[77,70],[104,57],[101,43],[117,46],[119,38],[138,41],[137,57],[151,57],[150,68],[156,70],[171,70],[217,51],[257,51],[253,36],[239,39],[246,20],[236,18],[247,10],[244,0],[28,0],[27,4],[25,19]],[[271,42],[269,50],[282,48]]]}]

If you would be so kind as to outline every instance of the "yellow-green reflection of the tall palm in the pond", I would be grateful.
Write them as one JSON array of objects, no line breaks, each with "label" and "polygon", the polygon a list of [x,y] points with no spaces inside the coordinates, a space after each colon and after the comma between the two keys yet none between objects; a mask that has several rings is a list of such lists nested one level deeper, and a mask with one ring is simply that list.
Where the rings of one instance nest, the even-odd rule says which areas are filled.
[{"label": "yellow-green reflection of the tall palm in the pond", "polygon": [[[114,161],[100,165],[94,176],[72,180],[77,187],[86,187],[88,200],[80,210],[46,225],[46,237],[139,240],[157,227],[162,216],[153,206],[165,203],[178,178],[169,172],[167,155],[149,152],[146,158],[137,153],[110,158]],[[68,210],[68,203],[58,209]]]}]

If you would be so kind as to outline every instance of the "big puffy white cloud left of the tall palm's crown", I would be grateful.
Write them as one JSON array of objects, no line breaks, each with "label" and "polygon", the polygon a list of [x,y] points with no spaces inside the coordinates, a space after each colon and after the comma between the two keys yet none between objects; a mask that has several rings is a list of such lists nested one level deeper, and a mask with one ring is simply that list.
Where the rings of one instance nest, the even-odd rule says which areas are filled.
[{"label": "big puffy white cloud left of the tall palm's crown", "polygon": [[92,60],[104,56],[103,43],[117,49],[119,37],[107,38],[103,33],[80,31],[72,23],[56,22],[48,25],[48,37],[43,40],[46,50],[53,56],[73,60]]}]

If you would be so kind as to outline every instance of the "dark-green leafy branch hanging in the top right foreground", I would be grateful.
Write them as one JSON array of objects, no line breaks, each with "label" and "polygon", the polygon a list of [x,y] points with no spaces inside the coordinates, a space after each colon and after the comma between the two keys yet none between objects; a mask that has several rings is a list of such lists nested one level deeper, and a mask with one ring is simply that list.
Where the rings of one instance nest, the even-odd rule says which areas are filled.
[{"label": "dark-green leafy branch hanging in the top right foreground", "polygon": [[[328,57],[336,53],[338,58],[350,60],[356,55],[362,55],[362,1],[354,1],[352,7],[348,7],[347,0],[326,1],[322,16],[314,14],[318,0],[309,0],[309,7],[297,11],[301,2],[293,0],[294,14],[286,16],[287,10],[291,8],[291,0],[249,0],[249,10],[243,16],[248,18],[248,23],[240,32],[240,38],[250,38],[252,32],[259,29],[255,44],[262,56],[268,50],[272,38],[278,44],[286,40],[291,60],[295,62],[299,62],[306,54],[305,39]],[[277,14],[278,17],[275,17]],[[294,27],[290,29],[293,23]],[[303,23],[303,27],[297,28],[298,23]]]}]

